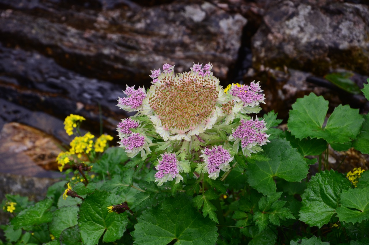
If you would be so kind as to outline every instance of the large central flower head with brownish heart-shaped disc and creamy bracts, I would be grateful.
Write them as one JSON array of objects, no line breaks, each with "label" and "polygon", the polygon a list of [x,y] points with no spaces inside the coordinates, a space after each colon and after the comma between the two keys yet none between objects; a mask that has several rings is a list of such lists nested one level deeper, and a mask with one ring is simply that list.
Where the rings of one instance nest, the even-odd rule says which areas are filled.
[{"label": "large central flower head with brownish heart-shaped disc and creamy bracts", "polygon": [[153,71],[158,77],[148,92],[148,116],[164,140],[190,140],[217,121],[224,90],[210,72],[211,65],[201,67],[194,64],[190,72],[176,75],[173,66],[163,73]]}]

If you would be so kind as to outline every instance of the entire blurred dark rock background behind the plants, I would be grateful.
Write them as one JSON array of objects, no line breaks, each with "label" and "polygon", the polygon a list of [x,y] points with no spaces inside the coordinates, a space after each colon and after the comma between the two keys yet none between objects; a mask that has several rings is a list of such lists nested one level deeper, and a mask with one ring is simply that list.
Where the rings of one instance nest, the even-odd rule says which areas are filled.
[{"label": "entire blurred dark rock background behind the plants", "polygon": [[[369,1],[0,0],[0,199],[60,176],[46,170],[72,139],[67,115],[85,117],[94,134],[102,118],[115,136],[128,116],[115,106],[126,85],[147,88],[150,70],[169,63],[180,73],[193,62],[213,63],[223,86],[261,81],[261,116],[275,110],[286,122],[310,92],[367,113],[362,95],[324,77],[366,83]],[[32,181],[9,184],[19,175]]]}]

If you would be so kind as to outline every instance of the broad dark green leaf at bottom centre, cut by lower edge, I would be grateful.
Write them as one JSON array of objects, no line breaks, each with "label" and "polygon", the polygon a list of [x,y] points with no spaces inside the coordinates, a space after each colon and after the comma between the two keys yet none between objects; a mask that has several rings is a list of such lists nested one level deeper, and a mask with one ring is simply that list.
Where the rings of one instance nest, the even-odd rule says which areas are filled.
[{"label": "broad dark green leaf at bottom centre, cut by lower edge", "polygon": [[134,244],[166,245],[175,240],[182,245],[207,245],[217,241],[215,223],[196,212],[186,195],[164,199],[158,207],[145,210],[137,221],[131,232]]}]

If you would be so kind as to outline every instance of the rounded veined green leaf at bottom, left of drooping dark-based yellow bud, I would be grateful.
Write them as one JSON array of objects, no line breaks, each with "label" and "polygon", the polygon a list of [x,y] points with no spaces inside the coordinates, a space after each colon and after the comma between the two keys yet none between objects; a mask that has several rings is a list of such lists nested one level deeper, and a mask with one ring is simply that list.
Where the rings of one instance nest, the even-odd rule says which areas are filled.
[{"label": "rounded veined green leaf at bottom, left of drooping dark-based yellow bud", "polygon": [[108,213],[107,209],[119,203],[120,197],[98,190],[85,198],[78,212],[79,229],[85,244],[97,244],[104,232],[103,242],[113,242],[123,236],[128,223],[127,214]]}]

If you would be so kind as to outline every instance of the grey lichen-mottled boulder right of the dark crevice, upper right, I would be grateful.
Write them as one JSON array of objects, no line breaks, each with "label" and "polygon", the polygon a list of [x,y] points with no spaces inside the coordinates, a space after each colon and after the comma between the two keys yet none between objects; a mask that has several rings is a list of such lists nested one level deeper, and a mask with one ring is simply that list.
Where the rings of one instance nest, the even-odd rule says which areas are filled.
[{"label": "grey lichen-mottled boulder right of the dark crevice, upper right", "polygon": [[273,1],[252,40],[254,68],[284,65],[316,75],[369,71],[369,7],[337,0]]}]

